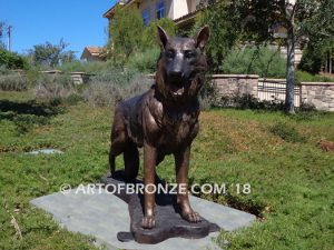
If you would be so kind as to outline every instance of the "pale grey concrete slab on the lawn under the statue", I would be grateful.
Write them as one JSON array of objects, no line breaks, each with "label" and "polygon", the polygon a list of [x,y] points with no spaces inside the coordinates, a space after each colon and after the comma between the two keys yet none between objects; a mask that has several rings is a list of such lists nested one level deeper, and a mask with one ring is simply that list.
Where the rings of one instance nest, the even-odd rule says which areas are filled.
[{"label": "pale grey concrete slab on the lawn under the statue", "polygon": [[[253,214],[196,197],[190,197],[190,202],[204,218],[227,231],[246,227],[256,219]],[[218,236],[217,232],[203,239],[171,238],[158,244],[118,241],[119,231],[129,231],[128,206],[102,189],[90,190],[89,193],[82,192],[82,189],[73,189],[68,193],[57,192],[33,199],[31,204],[51,213],[55,220],[67,230],[94,236],[99,244],[104,243],[108,249],[219,249],[213,241]]]}]

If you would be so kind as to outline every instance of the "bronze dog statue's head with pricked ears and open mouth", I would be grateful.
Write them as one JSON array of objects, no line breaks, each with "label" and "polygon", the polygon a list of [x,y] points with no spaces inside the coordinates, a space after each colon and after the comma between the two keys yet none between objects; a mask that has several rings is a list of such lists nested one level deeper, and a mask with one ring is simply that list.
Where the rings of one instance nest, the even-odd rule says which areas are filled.
[{"label": "bronze dog statue's head with pricked ears and open mouth", "polygon": [[157,67],[157,87],[170,100],[181,100],[198,93],[207,70],[203,53],[209,38],[205,26],[194,38],[169,37],[158,27],[160,58]]}]

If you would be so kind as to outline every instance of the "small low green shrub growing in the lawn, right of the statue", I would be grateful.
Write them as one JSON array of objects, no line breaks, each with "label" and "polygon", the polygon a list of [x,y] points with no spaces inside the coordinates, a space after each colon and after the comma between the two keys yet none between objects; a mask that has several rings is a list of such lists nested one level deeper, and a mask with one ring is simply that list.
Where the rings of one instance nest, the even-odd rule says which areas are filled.
[{"label": "small low green shrub growing in the lawn, right of the statue", "polygon": [[292,127],[291,124],[286,122],[276,122],[269,131],[277,136],[281,137],[283,140],[287,142],[304,142],[305,138],[303,138],[298,131]]}]

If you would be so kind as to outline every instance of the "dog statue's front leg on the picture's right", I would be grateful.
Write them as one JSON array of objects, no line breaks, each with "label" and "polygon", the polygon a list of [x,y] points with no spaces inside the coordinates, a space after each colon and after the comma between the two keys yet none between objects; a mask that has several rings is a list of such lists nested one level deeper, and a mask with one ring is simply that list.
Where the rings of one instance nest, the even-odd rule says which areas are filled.
[{"label": "dog statue's front leg on the picture's right", "polygon": [[[195,212],[189,203],[188,198],[188,170],[189,170],[189,158],[190,158],[190,146],[184,148],[180,152],[174,154],[175,157],[175,170],[176,181],[179,186],[177,202],[181,209],[181,217],[189,222],[202,221],[198,212]],[[181,188],[180,188],[181,187]]]}]

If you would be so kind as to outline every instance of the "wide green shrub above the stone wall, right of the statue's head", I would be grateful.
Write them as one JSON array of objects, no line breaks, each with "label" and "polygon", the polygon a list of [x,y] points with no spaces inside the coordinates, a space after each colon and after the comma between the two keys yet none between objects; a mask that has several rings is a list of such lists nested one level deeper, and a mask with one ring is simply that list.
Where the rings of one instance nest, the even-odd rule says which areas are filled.
[{"label": "wide green shrub above the stone wall, right of the statue's head", "polygon": [[278,50],[266,47],[233,50],[224,60],[224,73],[258,74],[263,78],[285,78],[286,60]]}]

